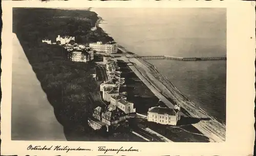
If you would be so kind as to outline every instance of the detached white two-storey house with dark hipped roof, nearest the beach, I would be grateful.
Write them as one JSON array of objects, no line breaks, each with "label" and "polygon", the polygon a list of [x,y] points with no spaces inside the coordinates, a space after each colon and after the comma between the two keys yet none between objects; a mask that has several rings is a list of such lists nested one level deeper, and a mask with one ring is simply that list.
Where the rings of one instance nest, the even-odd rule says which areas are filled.
[{"label": "detached white two-storey house with dark hipped roof, nearest the beach", "polygon": [[176,105],[174,109],[164,107],[152,107],[148,109],[147,121],[160,124],[176,125],[180,120],[180,106]]}]

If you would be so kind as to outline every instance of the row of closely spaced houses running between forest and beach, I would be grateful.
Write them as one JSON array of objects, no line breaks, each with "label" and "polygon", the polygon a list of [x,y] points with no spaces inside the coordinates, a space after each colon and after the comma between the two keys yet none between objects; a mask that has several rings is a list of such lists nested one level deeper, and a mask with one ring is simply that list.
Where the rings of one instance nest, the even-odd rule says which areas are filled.
[{"label": "row of closely spaced houses running between forest and beach", "polygon": [[100,91],[103,100],[110,104],[106,108],[95,108],[92,118],[88,119],[88,124],[95,130],[106,126],[109,132],[110,128],[127,126],[127,115],[136,113],[136,109],[134,103],[127,101],[126,97],[119,93],[120,86],[124,85],[125,80],[121,77],[116,59],[104,57],[103,63],[106,66],[108,81],[100,85]]}]

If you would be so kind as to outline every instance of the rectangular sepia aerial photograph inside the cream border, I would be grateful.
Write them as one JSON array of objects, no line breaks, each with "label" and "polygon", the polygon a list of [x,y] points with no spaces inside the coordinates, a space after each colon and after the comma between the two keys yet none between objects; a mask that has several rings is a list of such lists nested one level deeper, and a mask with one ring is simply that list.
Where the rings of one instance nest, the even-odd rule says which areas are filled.
[{"label": "rectangular sepia aerial photograph inside the cream border", "polygon": [[12,140],[225,141],[225,8],[13,8],[13,33]]}]

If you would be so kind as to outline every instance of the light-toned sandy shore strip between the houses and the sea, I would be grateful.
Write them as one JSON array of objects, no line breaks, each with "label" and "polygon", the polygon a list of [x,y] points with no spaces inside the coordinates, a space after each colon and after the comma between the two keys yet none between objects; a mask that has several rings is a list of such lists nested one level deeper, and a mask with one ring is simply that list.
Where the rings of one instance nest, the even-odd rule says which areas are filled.
[{"label": "light-toned sandy shore strip between the houses and the sea", "polygon": [[[124,48],[119,48],[119,50],[124,54],[127,52]],[[129,67],[167,107],[173,108],[174,104],[177,103],[183,108],[183,116],[202,119],[198,123],[192,125],[208,137],[210,142],[225,141],[225,125],[218,122],[215,118],[208,115],[205,111],[187,99],[172,83],[169,82],[167,77],[162,75],[152,64],[143,59],[133,58],[130,54],[119,59],[122,59],[127,63],[132,63],[133,65]],[[175,103],[170,102],[167,98],[172,99]]]}]

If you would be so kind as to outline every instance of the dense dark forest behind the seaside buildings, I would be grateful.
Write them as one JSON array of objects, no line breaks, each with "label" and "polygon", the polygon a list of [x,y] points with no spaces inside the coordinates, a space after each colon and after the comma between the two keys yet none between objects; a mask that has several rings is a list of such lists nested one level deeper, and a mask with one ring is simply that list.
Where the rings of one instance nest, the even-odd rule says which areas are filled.
[{"label": "dense dark forest behind the seaside buildings", "polygon": [[91,76],[95,73],[95,64],[72,62],[65,48],[41,43],[41,39],[55,40],[57,35],[74,35],[76,42],[113,40],[101,29],[91,32],[97,19],[96,13],[87,10],[13,9],[13,33],[22,44],[54,108],[56,119],[63,125],[67,140],[106,139],[104,129],[102,132],[92,131],[87,121],[97,107],[90,100],[90,92],[97,91],[97,84]]}]

